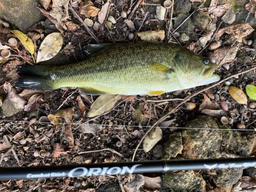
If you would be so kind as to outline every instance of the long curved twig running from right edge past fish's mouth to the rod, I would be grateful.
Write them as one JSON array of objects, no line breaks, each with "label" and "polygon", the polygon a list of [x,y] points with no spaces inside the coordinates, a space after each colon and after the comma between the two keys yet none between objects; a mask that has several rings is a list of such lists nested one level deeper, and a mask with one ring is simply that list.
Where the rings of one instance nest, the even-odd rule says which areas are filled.
[{"label": "long curved twig running from right edge past fish's mouth to the rod", "polygon": [[[251,63],[251,64],[256,64],[256,63]],[[194,94],[192,94],[192,95],[186,97],[182,102],[180,102],[178,105],[176,105],[176,107],[175,107],[172,111],[168,112],[168,113],[165,114],[163,117],[161,117],[159,120],[157,120],[157,121],[150,127],[150,129],[147,130],[147,132],[143,135],[143,137],[140,139],[140,141],[139,141],[137,147],[135,148],[132,161],[134,161],[135,154],[136,154],[136,152],[137,152],[137,150],[138,150],[138,148],[139,148],[139,146],[140,146],[140,143],[141,143],[142,140],[145,138],[145,136],[146,136],[146,135],[153,129],[153,127],[155,127],[159,122],[161,122],[162,120],[168,118],[170,114],[174,113],[175,110],[176,110],[180,105],[184,104],[186,101],[188,101],[188,100],[190,100],[191,98],[195,97],[195,96],[198,95],[199,93],[202,93],[202,92],[204,92],[204,91],[206,91],[206,90],[208,90],[208,89],[210,89],[210,88],[213,88],[213,87],[215,87],[215,86],[218,86],[218,84],[224,82],[224,81],[227,80],[227,79],[230,79],[231,77],[234,77],[234,76],[237,76],[237,75],[241,75],[241,74],[247,73],[247,72],[249,72],[249,71],[251,71],[251,70],[254,70],[254,69],[256,69],[256,66],[254,66],[254,67],[252,67],[252,68],[250,68],[250,69],[241,71],[241,72],[239,72],[239,73],[232,74],[232,75],[230,75],[230,76],[228,76],[228,77],[226,77],[226,78],[224,78],[224,79],[222,79],[222,80],[220,80],[220,81],[218,81],[218,82],[212,84],[211,86],[209,86],[209,87],[207,87],[207,88],[204,88],[204,89],[202,89],[202,90],[200,90],[200,91],[198,91],[198,92],[196,92],[196,93],[194,93]]]}]

